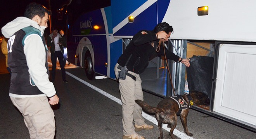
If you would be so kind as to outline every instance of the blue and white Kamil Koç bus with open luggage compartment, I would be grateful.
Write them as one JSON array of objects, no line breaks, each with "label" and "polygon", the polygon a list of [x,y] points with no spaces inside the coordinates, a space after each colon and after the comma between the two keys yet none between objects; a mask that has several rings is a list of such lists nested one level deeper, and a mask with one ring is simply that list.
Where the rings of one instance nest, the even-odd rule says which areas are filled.
[{"label": "blue and white Kamil Ko\u00e7 bus with open luggage compartment", "polygon": [[[116,80],[114,66],[133,35],[167,22],[174,29],[166,46],[170,51],[182,58],[211,59],[209,109],[192,108],[255,132],[256,108],[249,104],[256,100],[255,4],[253,0],[111,0],[111,5],[68,23],[68,61],[85,68],[90,80],[95,75]],[[174,95],[167,64],[175,93],[182,95],[191,88],[184,65],[156,57],[140,75],[144,91]]]}]

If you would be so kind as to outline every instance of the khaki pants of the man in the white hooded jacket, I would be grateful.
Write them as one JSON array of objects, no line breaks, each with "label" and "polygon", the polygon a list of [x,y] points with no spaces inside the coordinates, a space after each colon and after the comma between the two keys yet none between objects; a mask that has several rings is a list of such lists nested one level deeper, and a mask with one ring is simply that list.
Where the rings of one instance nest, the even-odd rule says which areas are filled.
[{"label": "khaki pants of the man in the white hooded jacket", "polygon": [[21,112],[31,139],[53,139],[55,135],[54,112],[44,97],[10,97]]}]

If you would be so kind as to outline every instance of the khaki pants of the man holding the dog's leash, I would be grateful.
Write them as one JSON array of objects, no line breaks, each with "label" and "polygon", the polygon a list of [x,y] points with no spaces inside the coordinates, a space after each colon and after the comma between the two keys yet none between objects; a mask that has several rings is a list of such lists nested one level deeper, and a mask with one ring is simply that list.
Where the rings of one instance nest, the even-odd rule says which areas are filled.
[{"label": "khaki pants of the man holding the dog's leash", "polygon": [[[114,71],[116,77],[118,77],[118,71],[120,71],[116,64]],[[119,80],[119,90],[122,100],[122,122],[123,122],[123,135],[129,136],[135,134],[135,128],[133,121],[136,125],[144,125],[145,119],[142,117],[142,108],[135,103],[135,100],[143,100],[143,92],[141,86],[140,75],[128,71],[131,75],[135,76],[136,81],[131,77],[126,76],[125,80]]]}]

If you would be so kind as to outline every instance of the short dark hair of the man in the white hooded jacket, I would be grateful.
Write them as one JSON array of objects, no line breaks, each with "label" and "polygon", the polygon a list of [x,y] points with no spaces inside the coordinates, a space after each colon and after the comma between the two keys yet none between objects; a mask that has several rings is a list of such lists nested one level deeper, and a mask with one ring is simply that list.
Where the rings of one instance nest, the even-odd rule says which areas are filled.
[{"label": "short dark hair of the man in the white hooded jacket", "polygon": [[43,5],[32,2],[27,5],[26,10],[24,12],[24,17],[28,17],[29,19],[33,19],[36,15],[38,15],[41,19],[45,16],[45,13],[48,15],[52,15],[52,12],[45,8]]}]

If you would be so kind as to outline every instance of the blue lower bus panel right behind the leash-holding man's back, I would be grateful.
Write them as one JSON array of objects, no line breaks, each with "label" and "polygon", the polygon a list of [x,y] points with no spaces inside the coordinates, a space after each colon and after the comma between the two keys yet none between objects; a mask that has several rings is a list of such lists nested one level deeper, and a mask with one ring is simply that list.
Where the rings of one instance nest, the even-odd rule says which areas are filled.
[{"label": "blue lower bus panel right behind the leash-holding man's back", "polygon": [[114,79],[116,78],[115,72],[114,72],[114,67],[118,61],[118,58],[121,56],[123,53],[123,48],[122,48],[122,40],[115,41],[110,44],[110,78]]}]

